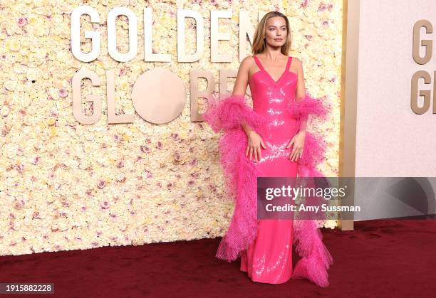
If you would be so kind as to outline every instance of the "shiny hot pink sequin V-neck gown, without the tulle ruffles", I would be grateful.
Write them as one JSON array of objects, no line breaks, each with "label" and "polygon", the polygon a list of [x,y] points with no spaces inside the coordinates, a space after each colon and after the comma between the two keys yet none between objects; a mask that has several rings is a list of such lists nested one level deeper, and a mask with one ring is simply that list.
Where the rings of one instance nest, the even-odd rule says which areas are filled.
[{"label": "shiny hot pink sequin V-neck gown, without the tulle ruffles", "polygon": [[[291,117],[288,105],[295,100],[297,75],[289,70],[288,58],[281,77],[274,79],[254,56],[259,71],[249,78],[253,110],[269,119],[266,149],[261,149],[261,160],[255,161],[261,176],[295,177],[298,161],[291,161],[291,148],[286,145],[298,132],[299,120]],[[254,282],[280,284],[292,276],[293,220],[259,220],[254,243],[242,252],[240,270],[247,272]]]}]

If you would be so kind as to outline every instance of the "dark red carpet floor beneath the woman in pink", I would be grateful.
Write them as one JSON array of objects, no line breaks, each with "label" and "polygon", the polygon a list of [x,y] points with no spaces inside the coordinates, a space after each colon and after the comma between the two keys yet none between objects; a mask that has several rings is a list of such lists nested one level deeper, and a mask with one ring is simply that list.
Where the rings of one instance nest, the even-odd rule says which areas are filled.
[{"label": "dark red carpet floor beneath the woman in pink", "polygon": [[1,256],[0,282],[55,284],[54,295],[25,297],[435,297],[436,220],[367,220],[322,232],[334,258],[327,288],[251,282],[239,260],[214,257],[221,238]]}]

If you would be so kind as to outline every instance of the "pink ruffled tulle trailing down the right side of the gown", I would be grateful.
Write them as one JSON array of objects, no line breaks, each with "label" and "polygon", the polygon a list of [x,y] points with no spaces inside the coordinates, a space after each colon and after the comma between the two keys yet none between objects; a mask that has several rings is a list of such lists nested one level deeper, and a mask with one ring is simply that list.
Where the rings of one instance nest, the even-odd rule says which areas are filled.
[{"label": "pink ruffled tulle trailing down the right side of the gown", "polygon": [[[305,129],[311,115],[321,120],[328,119],[331,106],[322,99],[315,99],[309,93],[299,102],[293,102],[290,106],[291,114],[299,119],[300,129]],[[303,154],[299,159],[298,176],[303,177],[303,185],[314,187],[317,184],[315,177],[324,177],[317,169],[318,165],[325,159],[326,142],[321,134],[308,132],[304,139]],[[307,196],[307,206],[321,206],[322,199]],[[322,214],[320,213],[322,216]],[[321,219],[321,216],[318,217]],[[301,256],[294,268],[293,278],[306,278],[320,287],[328,286],[328,272],[333,264],[333,257],[323,244],[321,231],[318,229],[316,220],[311,215],[299,216],[294,221],[294,244],[296,252]]]}]

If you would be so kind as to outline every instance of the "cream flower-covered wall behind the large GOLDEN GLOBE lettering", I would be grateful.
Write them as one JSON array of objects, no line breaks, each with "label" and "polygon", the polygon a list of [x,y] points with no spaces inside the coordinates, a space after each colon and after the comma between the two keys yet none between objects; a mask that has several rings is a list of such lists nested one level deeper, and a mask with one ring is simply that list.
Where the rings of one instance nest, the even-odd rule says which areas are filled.
[{"label": "cream flower-covered wall behind the large GOLDEN GLOBE lettering", "polygon": [[[98,60],[83,63],[71,53],[71,11],[80,5],[97,9],[100,23],[81,17],[81,49],[89,52],[83,31],[101,33]],[[135,12],[138,54],[126,63],[107,53],[106,16],[115,6]],[[153,11],[153,51],[169,53],[172,63],[143,60],[142,9]],[[211,63],[209,51],[195,63],[177,63],[177,9],[204,17],[209,43],[210,10],[232,9],[220,31],[231,41],[220,51],[234,53],[232,63]],[[309,129],[325,134],[326,176],[338,174],[339,95],[341,86],[342,1],[136,1],[2,0],[0,3],[0,254],[140,245],[224,235],[233,202],[224,192],[217,140],[204,122],[190,121],[189,100],[182,114],[167,124],[151,124],[135,114],[133,83],[146,70],[163,67],[186,83],[192,68],[239,66],[239,10],[279,10],[289,16],[293,34],[289,55],[303,60],[306,88],[333,106],[331,122]],[[186,45],[194,52],[194,21],[187,19]],[[118,50],[128,51],[128,23],[117,20]],[[247,48],[247,55],[249,49]],[[103,115],[83,125],[73,117],[71,80],[81,68],[98,73],[99,87],[82,81],[82,97],[101,95]],[[135,114],[131,124],[108,124],[105,72],[115,70],[117,114]],[[218,91],[216,89],[216,91]],[[83,109],[92,114],[89,102]],[[320,223],[336,226],[336,220]]]}]

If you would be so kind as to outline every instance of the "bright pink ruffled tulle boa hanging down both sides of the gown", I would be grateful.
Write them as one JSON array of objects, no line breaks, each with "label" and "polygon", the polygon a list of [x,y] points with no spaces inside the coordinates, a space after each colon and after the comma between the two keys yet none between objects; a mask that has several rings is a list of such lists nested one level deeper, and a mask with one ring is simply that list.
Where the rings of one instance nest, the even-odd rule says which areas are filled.
[{"label": "bright pink ruffled tulle boa hanging down both sides of the gown", "polygon": [[[254,241],[258,228],[256,186],[259,173],[254,161],[245,156],[248,138],[242,124],[248,124],[263,137],[267,122],[246,105],[245,97],[242,95],[226,94],[222,100],[216,100],[211,96],[207,97],[207,100],[208,108],[202,117],[214,132],[224,132],[219,139],[219,161],[226,177],[227,192],[235,202],[232,221],[219,243],[216,257],[232,262]],[[315,100],[306,94],[303,100],[293,102],[289,106],[289,112],[300,120],[307,119],[309,115],[325,119],[328,108],[321,100]],[[325,150],[326,143],[321,135],[306,132],[297,175],[323,177],[316,166],[324,160]],[[311,183],[310,179],[308,181]],[[315,220],[295,220],[294,244],[301,260],[294,269],[293,278],[307,278],[321,287],[326,287],[327,270],[333,263],[333,257],[323,245],[321,231],[316,227]]]}]

